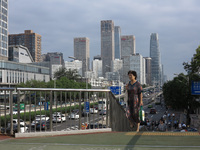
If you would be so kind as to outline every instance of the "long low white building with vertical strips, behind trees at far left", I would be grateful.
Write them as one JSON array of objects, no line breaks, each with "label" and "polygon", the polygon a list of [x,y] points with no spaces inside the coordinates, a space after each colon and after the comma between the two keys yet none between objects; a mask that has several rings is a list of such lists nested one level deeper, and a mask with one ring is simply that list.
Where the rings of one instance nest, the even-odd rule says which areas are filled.
[{"label": "long low white building with vertical strips, behind trees at far left", "polygon": [[49,68],[27,63],[0,60],[0,85],[11,87],[29,80],[48,82]]}]

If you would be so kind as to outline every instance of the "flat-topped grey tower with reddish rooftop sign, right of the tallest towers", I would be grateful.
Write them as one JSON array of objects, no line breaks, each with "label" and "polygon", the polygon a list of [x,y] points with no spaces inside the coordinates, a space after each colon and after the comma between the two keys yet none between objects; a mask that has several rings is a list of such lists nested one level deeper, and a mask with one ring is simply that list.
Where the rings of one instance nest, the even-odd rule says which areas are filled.
[{"label": "flat-topped grey tower with reddish rooftop sign, right of the tallest towers", "polygon": [[121,36],[122,81],[124,83],[127,83],[127,73],[130,70],[130,56],[134,55],[135,51],[135,36]]}]

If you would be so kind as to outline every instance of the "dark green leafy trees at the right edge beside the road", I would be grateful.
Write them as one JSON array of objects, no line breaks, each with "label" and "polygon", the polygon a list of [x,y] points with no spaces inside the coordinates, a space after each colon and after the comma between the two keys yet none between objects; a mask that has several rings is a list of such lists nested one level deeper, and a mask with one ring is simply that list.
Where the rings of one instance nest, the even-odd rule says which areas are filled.
[{"label": "dark green leafy trees at the right edge beside the road", "polygon": [[175,109],[186,111],[187,125],[190,124],[189,114],[200,107],[200,103],[196,101],[198,95],[191,94],[192,81],[200,81],[200,46],[196,49],[196,54],[191,62],[183,63],[187,74],[180,73],[173,80],[164,83],[163,95],[167,106]]}]

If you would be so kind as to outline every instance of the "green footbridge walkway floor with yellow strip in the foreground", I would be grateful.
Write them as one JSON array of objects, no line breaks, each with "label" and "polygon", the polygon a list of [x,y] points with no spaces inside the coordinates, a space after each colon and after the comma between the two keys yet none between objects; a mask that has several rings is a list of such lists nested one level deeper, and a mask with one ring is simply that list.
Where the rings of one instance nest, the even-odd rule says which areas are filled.
[{"label": "green footbridge walkway floor with yellow strip in the foreground", "polygon": [[[1,139],[1,138],[0,138]],[[199,150],[198,132],[107,132],[4,138],[1,150]]]}]

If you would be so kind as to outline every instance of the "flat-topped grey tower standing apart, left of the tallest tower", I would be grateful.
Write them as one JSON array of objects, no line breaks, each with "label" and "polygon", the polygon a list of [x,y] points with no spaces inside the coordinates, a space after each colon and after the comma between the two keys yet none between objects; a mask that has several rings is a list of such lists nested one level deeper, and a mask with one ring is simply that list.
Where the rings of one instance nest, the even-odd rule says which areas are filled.
[{"label": "flat-topped grey tower standing apart, left of the tallest tower", "polygon": [[74,38],[74,57],[82,61],[82,74],[85,76],[90,67],[90,40],[87,37]]}]

